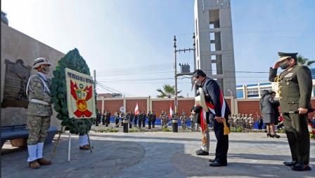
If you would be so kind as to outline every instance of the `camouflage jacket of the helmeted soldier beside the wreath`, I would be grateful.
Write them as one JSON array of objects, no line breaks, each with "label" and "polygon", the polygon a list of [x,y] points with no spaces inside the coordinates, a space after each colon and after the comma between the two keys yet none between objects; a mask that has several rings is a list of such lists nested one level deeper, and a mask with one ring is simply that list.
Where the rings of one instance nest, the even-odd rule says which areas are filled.
[{"label": "camouflage jacket of the helmeted soldier beside the wreath", "polygon": [[[29,78],[29,85],[27,89],[30,103],[27,107],[27,115],[51,116],[53,114],[53,109],[51,107],[51,94],[49,90],[45,89],[43,81],[50,90],[51,80],[49,78],[42,78],[39,74],[35,74]],[[47,102],[48,105],[32,102],[32,99]]]}]

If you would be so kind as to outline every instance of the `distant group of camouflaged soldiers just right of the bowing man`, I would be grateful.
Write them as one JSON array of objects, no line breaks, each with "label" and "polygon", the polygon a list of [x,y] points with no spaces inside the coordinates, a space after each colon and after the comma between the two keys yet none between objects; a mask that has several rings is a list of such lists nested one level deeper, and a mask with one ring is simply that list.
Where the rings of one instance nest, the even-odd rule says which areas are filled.
[{"label": "distant group of camouflaged soldiers just right of the bowing man", "polygon": [[248,131],[254,128],[254,117],[252,114],[231,114],[228,122],[231,128],[242,128]]}]

